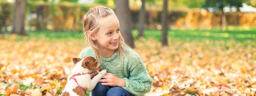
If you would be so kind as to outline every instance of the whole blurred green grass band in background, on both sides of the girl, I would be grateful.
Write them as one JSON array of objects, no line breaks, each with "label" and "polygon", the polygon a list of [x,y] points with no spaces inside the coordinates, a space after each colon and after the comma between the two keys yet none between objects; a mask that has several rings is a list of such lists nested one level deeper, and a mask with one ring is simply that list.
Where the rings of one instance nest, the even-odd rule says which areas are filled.
[{"label": "whole blurred green grass band in background, on both sides of the girl", "polygon": [[[180,39],[189,39],[189,40],[230,40],[234,39],[236,41],[244,40],[256,40],[256,27],[241,27],[241,26],[228,26],[227,30],[221,31],[219,28],[213,28],[211,30],[168,30],[168,38],[180,38]],[[74,32],[74,31],[48,31],[48,30],[35,30],[26,31],[28,37],[34,37],[36,39],[68,39],[75,38],[81,39],[84,38],[83,33]],[[7,34],[8,32],[4,32]],[[136,39],[137,34],[139,33],[138,29],[132,29],[132,36]],[[162,31],[157,29],[145,29],[144,30],[145,38],[153,38],[158,41],[161,41]],[[29,38],[28,38],[29,39]],[[138,38],[137,38],[138,39]],[[17,41],[22,39],[17,39]]]}]

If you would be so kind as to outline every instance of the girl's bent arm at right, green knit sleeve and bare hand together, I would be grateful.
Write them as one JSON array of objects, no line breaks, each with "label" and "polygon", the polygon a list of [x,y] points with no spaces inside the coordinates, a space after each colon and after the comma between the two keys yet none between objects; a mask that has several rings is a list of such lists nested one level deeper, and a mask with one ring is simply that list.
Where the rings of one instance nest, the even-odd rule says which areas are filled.
[{"label": "girl's bent arm at right, green knit sleeve and bare hand together", "polygon": [[128,78],[118,78],[112,73],[106,73],[99,82],[102,85],[123,87],[126,91],[134,95],[144,95],[149,92],[152,86],[152,78],[149,76],[144,64],[140,58],[129,62],[128,69],[130,76]]}]

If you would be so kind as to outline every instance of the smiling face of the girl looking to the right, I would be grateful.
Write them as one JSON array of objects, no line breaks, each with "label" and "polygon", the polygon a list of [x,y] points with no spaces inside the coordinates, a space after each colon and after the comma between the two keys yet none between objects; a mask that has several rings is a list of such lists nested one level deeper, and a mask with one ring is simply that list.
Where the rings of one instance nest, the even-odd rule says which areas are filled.
[{"label": "smiling face of the girl looking to the right", "polygon": [[101,52],[115,52],[121,38],[119,20],[116,15],[99,20],[100,28],[98,33],[95,34],[94,41]]}]

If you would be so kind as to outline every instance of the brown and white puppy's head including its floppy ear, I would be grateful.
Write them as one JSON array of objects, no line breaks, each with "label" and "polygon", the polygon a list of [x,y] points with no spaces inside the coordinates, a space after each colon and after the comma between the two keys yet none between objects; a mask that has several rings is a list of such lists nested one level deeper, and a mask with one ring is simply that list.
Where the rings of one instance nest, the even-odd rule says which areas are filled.
[{"label": "brown and white puppy's head including its floppy ear", "polygon": [[71,59],[75,64],[76,63],[82,63],[81,66],[83,68],[88,68],[90,71],[93,71],[94,69],[97,68],[97,61],[94,59],[92,56],[87,56],[84,58],[72,58]]}]

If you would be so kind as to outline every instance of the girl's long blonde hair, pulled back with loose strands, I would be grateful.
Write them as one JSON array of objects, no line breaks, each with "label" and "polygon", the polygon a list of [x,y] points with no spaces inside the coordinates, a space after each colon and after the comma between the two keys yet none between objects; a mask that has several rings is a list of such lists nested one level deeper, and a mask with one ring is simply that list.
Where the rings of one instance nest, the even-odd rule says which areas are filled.
[{"label": "girl's long blonde hair, pulled back with loose strands", "polygon": [[[96,7],[90,8],[89,11],[84,14],[84,17],[83,17],[83,33],[85,35],[85,38],[87,39],[86,41],[89,42],[89,46],[92,47],[92,50],[96,57],[96,60],[98,61],[98,67],[101,64],[101,59],[100,59],[101,51],[96,46],[95,41],[93,41],[90,38],[90,35],[92,33],[96,34],[99,31],[99,28],[100,28],[99,19],[100,18],[108,17],[111,15],[116,15],[115,12],[113,11],[113,9],[107,8],[104,6],[96,6]],[[130,52],[127,51],[124,47],[130,48],[130,49],[132,49],[132,48],[124,43],[123,36],[121,36],[121,38],[119,38],[119,39],[120,39],[120,41],[118,43],[118,48],[116,49],[116,51],[117,51],[117,57],[120,56],[121,57],[120,60],[122,62],[122,59],[123,59],[122,57],[124,56],[126,58],[126,56],[127,56],[126,53],[130,54]],[[130,56],[132,57],[131,54],[130,54]],[[118,67],[120,66],[121,62],[119,63]]]}]

